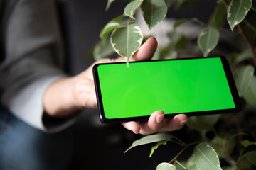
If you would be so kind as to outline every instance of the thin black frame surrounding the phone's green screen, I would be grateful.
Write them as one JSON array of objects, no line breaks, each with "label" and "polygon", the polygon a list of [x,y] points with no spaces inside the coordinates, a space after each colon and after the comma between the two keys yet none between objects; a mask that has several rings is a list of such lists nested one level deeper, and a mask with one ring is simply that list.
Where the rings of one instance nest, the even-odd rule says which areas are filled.
[{"label": "thin black frame surrounding the phone's green screen", "polygon": [[[235,81],[233,79],[233,74],[231,72],[230,66],[228,64],[228,60],[223,56],[212,56],[220,58],[223,69],[225,71],[225,76],[228,80],[228,86],[230,87],[231,94],[233,96],[233,101],[235,103],[235,108],[230,109],[220,109],[220,110],[212,110],[212,111],[196,111],[196,112],[187,112],[183,113],[187,116],[199,116],[199,115],[213,115],[213,114],[220,114],[220,113],[237,113],[241,111],[241,103],[240,103],[240,97],[238,95],[238,90],[235,86]],[[194,60],[194,59],[200,59],[200,58],[206,58],[206,57],[187,57],[187,58],[180,58],[180,59],[171,59],[171,60]],[[208,58],[208,57],[207,57]],[[137,62],[158,62],[158,61],[168,61],[168,60],[148,60],[148,61],[137,61]],[[100,121],[102,123],[117,123],[117,122],[127,122],[127,121],[138,121],[138,120],[147,120],[149,116],[138,116],[138,117],[129,117],[129,118],[114,118],[114,119],[108,119],[105,117],[104,108],[102,104],[102,95],[100,91],[100,81],[98,77],[97,67],[102,64],[123,64],[125,62],[109,62],[109,63],[98,63],[95,64],[92,68],[94,82],[95,82],[95,91],[97,96],[97,107],[99,111]],[[132,63],[132,62],[131,62]],[[178,115],[181,113],[166,113],[164,115],[164,118],[173,118],[175,115]]]}]

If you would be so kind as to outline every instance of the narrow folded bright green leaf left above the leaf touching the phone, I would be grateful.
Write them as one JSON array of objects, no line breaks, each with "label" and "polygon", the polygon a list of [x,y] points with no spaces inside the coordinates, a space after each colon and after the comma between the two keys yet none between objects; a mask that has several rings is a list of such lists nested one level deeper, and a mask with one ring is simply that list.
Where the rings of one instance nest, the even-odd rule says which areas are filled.
[{"label": "narrow folded bright green leaf left above the leaf touching the phone", "polygon": [[104,26],[104,28],[102,28],[102,30],[100,31],[100,38],[105,39],[110,31],[120,26],[119,21],[121,21],[122,18],[124,18],[124,16],[118,16],[117,18],[114,18],[112,19],[112,21],[108,22],[106,26]]}]

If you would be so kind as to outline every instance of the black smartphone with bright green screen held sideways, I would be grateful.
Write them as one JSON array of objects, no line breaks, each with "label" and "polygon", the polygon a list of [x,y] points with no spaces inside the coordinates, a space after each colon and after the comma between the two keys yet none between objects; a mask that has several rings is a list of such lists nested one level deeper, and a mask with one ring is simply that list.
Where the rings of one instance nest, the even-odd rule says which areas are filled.
[{"label": "black smartphone with bright green screen held sideways", "polygon": [[225,57],[102,63],[93,75],[102,123],[146,120],[157,110],[164,118],[241,110]]}]

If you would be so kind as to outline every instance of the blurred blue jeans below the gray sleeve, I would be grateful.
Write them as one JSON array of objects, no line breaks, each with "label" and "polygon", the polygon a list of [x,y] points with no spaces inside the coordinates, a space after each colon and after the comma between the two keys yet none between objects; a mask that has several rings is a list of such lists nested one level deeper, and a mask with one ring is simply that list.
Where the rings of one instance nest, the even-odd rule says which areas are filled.
[{"label": "blurred blue jeans below the gray sleeve", "polygon": [[0,106],[1,170],[65,170],[73,166],[73,129],[48,134]]}]

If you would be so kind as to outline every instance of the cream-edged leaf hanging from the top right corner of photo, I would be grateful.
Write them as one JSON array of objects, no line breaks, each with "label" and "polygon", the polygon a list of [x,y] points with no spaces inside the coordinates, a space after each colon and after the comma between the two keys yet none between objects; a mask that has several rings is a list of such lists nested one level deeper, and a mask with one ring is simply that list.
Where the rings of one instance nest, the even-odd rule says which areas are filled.
[{"label": "cream-edged leaf hanging from the top right corner of photo", "polygon": [[228,6],[228,23],[233,31],[234,27],[247,15],[252,7],[252,0],[232,0]]}]

